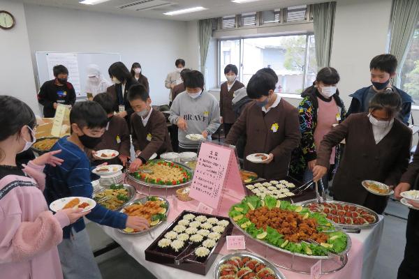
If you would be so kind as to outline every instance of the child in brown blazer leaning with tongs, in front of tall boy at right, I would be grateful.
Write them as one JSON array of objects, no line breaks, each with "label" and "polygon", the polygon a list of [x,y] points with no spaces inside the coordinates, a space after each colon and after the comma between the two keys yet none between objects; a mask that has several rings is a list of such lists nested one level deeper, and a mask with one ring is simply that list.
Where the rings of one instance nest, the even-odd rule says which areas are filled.
[{"label": "child in brown blazer leaning with tongs, in front of tall boy at right", "polygon": [[406,171],[412,131],[396,118],[401,107],[398,93],[379,93],[369,103],[369,112],[351,114],[332,128],[317,150],[314,181],[328,173],[333,147],[346,140],[333,180],[334,199],[383,213],[388,197],[369,193],[362,181],[374,180],[393,187]]}]

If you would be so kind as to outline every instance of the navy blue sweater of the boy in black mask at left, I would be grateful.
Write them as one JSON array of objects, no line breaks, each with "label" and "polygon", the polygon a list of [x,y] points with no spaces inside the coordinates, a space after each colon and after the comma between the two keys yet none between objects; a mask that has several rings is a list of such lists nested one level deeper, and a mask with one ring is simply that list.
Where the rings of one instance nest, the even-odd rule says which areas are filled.
[{"label": "navy blue sweater of the boy in black mask at left", "polygon": [[[45,167],[46,187],[44,191],[45,199],[50,204],[56,199],[62,197],[89,197],[93,194],[91,186],[91,167],[86,153],[73,142],[67,140],[68,137],[62,137],[51,151],[60,150],[56,156],[64,160],[61,165]],[[86,216],[94,223],[124,229],[126,227],[126,214],[116,211],[110,211],[104,206],[97,204],[91,213]],[[80,232],[85,228],[83,218],[64,227],[64,239],[69,239],[71,229]]]}]

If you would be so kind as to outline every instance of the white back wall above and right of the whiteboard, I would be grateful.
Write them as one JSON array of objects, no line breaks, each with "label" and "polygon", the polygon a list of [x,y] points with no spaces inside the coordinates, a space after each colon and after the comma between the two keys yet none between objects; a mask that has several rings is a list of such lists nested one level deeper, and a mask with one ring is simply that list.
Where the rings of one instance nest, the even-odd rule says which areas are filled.
[{"label": "white back wall above and right of the whiteboard", "polygon": [[[128,69],[140,62],[154,105],[168,103],[164,80],[175,60],[189,54],[186,22],[24,5],[36,71],[35,52],[117,52]],[[105,69],[108,77],[108,69]]]}]

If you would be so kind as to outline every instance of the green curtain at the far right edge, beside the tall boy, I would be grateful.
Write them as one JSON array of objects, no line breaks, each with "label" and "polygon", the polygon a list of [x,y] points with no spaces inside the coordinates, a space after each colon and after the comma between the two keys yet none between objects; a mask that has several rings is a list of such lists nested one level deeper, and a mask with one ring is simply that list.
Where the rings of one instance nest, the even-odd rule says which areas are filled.
[{"label": "green curtain at the far right edge, beside the tall boy", "polygon": [[400,72],[406,59],[409,44],[419,20],[418,0],[393,0],[390,34],[390,54],[399,62],[395,85],[400,86]]}]

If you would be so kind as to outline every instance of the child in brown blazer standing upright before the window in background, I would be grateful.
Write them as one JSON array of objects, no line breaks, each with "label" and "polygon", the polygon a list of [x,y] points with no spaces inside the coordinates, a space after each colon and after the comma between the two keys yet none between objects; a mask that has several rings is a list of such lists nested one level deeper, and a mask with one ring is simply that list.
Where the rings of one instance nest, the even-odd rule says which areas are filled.
[{"label": "child in brown blazer standing upright before the window in background", "polygon": [[228,64],[224,68],[224,75],[226,75],[226,82],[221,84],[220,90],[220,115],[221,123],[224,126],[224,135],[227,137],[228,132],[230,131],[233,123],[235,123],[236,117],[235,112],[233,111],[233,93],[236,90],[244,87],[242,82],[237,80],[238,74],[237,67],[232,64]]}]

